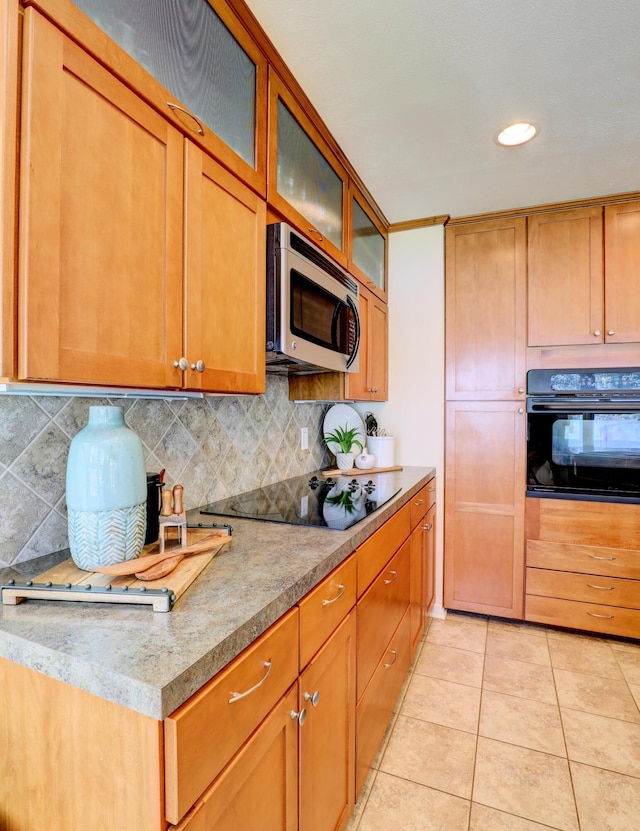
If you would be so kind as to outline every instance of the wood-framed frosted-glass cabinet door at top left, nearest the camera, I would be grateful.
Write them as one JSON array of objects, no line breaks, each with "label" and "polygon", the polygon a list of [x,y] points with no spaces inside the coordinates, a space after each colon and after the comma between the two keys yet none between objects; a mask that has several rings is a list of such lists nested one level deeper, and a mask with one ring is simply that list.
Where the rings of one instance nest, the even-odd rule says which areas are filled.
[{"label": "wood-framed frosted-glass cabinet door at top left, nearest the camera", "polygon": [[[267,61],[222,0],[34,0],[33,5],[266,195]],[[99,29],[83,25],[76,7]],[[123,51],[114,49],[113,41]]]}]

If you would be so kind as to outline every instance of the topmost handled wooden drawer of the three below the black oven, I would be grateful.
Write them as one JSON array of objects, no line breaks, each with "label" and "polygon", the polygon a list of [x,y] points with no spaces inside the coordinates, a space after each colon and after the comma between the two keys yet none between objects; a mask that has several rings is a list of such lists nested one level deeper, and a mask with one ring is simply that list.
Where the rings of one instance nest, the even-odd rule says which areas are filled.
[{"label": "topmost handled wooden drawer of the three below the black oven", "polygon": [[640,580],[640,551],[527,540],[527,566]]}]

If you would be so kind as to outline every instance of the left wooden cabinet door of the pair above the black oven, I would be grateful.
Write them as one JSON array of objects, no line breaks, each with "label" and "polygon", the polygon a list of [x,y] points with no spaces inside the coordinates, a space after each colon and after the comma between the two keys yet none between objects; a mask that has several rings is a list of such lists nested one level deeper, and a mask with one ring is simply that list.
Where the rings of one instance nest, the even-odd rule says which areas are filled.
[{"label": "left wooden cabinet door of the pair above the black oven", "polygon": [[602,343],[602,208],[528,218],[529,346]]}]

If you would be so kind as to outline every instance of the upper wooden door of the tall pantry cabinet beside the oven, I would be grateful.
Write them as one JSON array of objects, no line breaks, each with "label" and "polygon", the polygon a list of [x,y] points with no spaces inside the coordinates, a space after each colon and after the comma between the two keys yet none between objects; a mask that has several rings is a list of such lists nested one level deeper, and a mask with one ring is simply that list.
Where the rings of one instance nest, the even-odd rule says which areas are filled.
[{"label": "upper wooden door of the tall pantry cabinet beside the oven", "polygon": [[446,397],[524,400],[526,220],[445,231]]}]

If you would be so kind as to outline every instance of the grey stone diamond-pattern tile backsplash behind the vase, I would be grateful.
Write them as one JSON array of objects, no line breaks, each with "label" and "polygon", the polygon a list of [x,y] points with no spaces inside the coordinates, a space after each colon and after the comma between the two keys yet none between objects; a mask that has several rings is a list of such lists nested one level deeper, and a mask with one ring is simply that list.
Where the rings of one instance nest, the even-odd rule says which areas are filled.
[{"label": "grey stone diamond-pattern tile backsplash behind the vase", "polygon": [[[121,404],[150,473],[184,485],[187,509],[331,464],[327,404],[289,401],[287,379],[260,396],[189,399],[0,396],[0,566],[67,548],[69,444],[91,404]],[[300,450],[300,428],[309,450]]]}]

